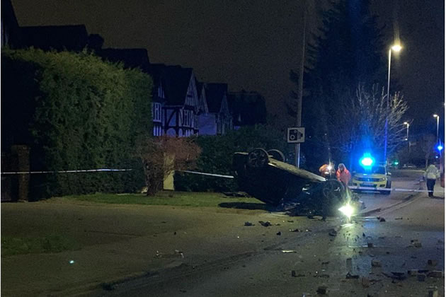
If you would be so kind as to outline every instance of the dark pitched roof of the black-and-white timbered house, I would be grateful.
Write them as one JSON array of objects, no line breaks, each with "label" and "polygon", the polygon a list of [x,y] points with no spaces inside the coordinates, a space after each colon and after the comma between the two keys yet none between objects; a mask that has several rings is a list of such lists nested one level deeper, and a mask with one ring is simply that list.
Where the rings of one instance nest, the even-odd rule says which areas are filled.
[{"label": "dark pitched roof of the black-and-white timbered house", "polygon": [[159,86],[160,82],[163,84],[168,105],[184,104],[190,78],[193,74],[192,68],[183,68],[178,65],[150,64],[149,74],[154,79],[156,86]]}]

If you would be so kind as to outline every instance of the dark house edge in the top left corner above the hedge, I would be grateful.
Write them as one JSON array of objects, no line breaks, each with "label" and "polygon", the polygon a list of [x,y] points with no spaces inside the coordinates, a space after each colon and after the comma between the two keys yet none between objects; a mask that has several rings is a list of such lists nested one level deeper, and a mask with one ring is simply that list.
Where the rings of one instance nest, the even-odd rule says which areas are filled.
[{"label": "dark house edge in the top left corner above the hedge", "polygon": [[1,46],[21,47],[21,33],[11,0],[1,0]]}]

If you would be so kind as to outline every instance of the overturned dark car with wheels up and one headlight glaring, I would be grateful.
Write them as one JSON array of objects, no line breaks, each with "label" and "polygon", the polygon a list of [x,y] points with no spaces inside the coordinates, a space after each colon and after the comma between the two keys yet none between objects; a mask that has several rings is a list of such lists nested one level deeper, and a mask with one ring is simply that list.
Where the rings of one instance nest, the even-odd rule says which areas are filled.
[{"label": "overturned dark car with wheels up and one headlight glaring", "polygon": [[341,182],[285,163],[278,150],[234,153],[232,165],[239,188],[277,210],[321,216],[341,211],[350,217],[360,207],[358,198]]}]

